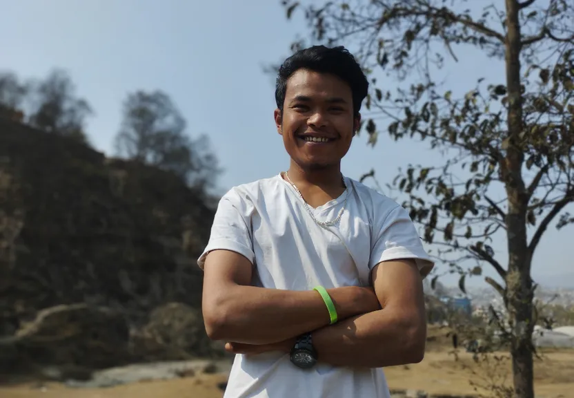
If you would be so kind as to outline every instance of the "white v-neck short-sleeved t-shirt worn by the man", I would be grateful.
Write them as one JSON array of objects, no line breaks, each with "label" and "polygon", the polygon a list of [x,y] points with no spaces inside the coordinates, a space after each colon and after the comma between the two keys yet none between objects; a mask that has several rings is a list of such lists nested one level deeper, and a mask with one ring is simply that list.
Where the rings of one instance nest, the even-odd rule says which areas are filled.
[{"label": "white v-neck short-sleeved t-shirt worn by the man", "polygon": [[[407,211],[377,191],[350,178],[347,190],[314,209],[310,217],[293,186],[280,175],[228,191],[217,208],[208,252],[227,249],[254,265],[252,284],[286,290],[370,285],[370,271],[385,260],[415,258],[422,275],[433,267]],[[320,353],[319,353],[320,354]],[[288,354],[237,354],[224,398],[388,398],[383,370],[340,368],[317,363],[297,368]]]}]

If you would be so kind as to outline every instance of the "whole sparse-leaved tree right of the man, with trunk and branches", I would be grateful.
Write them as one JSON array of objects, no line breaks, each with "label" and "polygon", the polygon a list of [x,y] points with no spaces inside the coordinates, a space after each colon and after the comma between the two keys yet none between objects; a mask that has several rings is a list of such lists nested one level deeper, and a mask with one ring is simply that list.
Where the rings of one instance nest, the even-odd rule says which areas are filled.
[{"label": "whole sparse-leaved tree right of the man, with trunk and branches", "polygon": [[[395,93],[373,77],[369,142],[386,124],[396,140],[426,140],[448,153],[440,167],[408,167],[395,186],[424,239],[444,247],[441,255],[462,272],[463,290],[460,260],[475,260],[475,275],[488,264],[503,281],[486,278],[507,311],[498,325],[510,342],[513,395],[533,398],[532,258],[552,223],[574,221],[565,211],[574,202],[574,3],[499,0],[475,12],[464,10],[476,9],[474,0],[282,3],[288,17],[304,8],[311,41],[357,48],[368,73],[401,81],[420,72]],[[431,65],[457,60],[459,46],[504,60],[506,82],[480,79],[460,98],[440,92]],[[499,200],[496,187],[504,189]],[[495,258],[493,237],[506,240],[508,258]]]}]

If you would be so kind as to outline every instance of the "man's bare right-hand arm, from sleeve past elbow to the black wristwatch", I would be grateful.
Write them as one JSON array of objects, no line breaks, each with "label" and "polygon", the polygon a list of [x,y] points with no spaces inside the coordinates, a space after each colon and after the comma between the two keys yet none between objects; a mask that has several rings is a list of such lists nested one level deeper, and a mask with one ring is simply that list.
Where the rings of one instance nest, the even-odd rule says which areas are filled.
[{"label": "man's bare right-hand arm, from sleeve past elbow to the black wristwatch", "polygon": [[422,361],[426,315],[414,260],[379,263],[373,269],[373,286],[382,310],[313,332],[319,361],[366,368]]}]

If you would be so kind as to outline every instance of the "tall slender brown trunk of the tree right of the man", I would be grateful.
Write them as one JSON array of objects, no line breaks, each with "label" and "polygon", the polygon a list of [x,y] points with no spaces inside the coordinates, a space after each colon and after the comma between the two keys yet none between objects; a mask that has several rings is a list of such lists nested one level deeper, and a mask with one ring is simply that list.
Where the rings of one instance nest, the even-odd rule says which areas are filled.
[{"label": "tall slender brown trunk of the tree right of the man", "polygon": [[521,35],[519,3],[506,0],[506,88],[508,91],[508,136],[506,156],[500,170],[508,196],[506,233],[508,236],[508,273],[506,309],[513,328],[511,355],[516,398],[534,398],[533,386],[533,290],[531,256],[526,238],[528,193],[522,178],[524,152],[522,133],[522,91],[520,87]]}]

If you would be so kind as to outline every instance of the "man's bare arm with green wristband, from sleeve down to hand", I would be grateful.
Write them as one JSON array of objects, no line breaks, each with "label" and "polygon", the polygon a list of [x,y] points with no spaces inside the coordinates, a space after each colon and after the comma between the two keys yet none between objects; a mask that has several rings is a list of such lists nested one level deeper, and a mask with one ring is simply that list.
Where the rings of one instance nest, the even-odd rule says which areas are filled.
[{"label": "man's bare arm with green wristband, from sleeve down to hand", "polygon": [[[253,345],[277,343],[329,324],[319,293],[250,286],[253,265],[228,250],[214,250],[204,265],[202,310],[208,336]],[[363,287],[327,290],[339,319],[377,310],[377,296]]]}]

